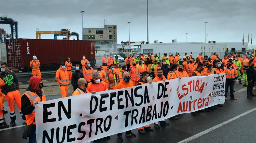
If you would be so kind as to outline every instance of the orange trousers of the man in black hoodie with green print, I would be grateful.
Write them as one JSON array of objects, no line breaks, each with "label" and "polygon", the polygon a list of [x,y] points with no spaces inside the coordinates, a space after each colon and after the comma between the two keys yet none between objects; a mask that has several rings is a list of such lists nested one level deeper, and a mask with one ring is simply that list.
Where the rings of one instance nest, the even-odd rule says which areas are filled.
[{"label": "orange trousers of the man in black hoodie with green print", "polygon": [[15,111],[14,111],[14,101],[18,106],[18,109],[19,109],[19,112],[20,112],[21,116],[23,116],[23,114],[21,112],[21,94],[20,94],[20,91],[16,90],[16,91],[8,92],[7,95],[5,96],[5,98],[8,102],[8,106],[9,106],[9,109],[10,109],[11,120],[16,119],[16,115],[15,115]]}]

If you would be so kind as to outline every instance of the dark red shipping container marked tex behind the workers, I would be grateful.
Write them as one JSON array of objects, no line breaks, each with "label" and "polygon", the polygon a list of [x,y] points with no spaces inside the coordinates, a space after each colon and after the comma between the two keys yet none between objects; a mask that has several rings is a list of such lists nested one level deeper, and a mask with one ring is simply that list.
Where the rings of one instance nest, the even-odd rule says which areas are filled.
[{"label": "dark red shipping container marked tex behind the workers", "polygon": [[[7,64],[13,71],[27,71],[33,56],[40,62],[40,70],[58,70],[61,62],[70,58],[73,67],[83,55],[95,66],[95,42],[87,40],[8,39]],[[31,69],[30,69],[31,71]]]}]

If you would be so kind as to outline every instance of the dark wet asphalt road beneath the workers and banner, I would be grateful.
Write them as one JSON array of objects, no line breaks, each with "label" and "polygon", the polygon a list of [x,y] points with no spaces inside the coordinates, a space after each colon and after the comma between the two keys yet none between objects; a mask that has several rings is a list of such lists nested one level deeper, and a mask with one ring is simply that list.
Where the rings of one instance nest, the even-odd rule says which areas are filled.
[{"label": "dark wet asphalt road beneath the workers and banner", "polygon": [[[190,113],[179,116],[179,120],[166,120],[169,126],[160,125],[159,129],[151,127],[154,131],[146,131],[146,134],[139,134],[138,129],[132,130],[136,137],[126,137],[123,134],[123,143],[255,143],[256,142],[256,97],[246,98],[246,86],[235,84],[235,97],[238,100],[228,100],[223,107],[217,107],[211,112],[198,113],[194,116]],[[256,91],[253,90],[256,94]],[[229,93],[228,93],[229,95]],[[69,95],[70,96],[70,95]],[[61,98],[61,96],[46,97],[47,100]],[[5,108],[8,110],[8,103],[5,101]],[[22,139],[25,120],[19,115],[18,108],[15,108],[17,115],[16,124],[10,128],[0,128],[1,143],[27,143]],[[9,111],[4,115],[6,122],[10,123]],[[22,127],[20,127],[22,126]],[[119,142],[116,135],[110,139],[93,141],[97,143]]]}]

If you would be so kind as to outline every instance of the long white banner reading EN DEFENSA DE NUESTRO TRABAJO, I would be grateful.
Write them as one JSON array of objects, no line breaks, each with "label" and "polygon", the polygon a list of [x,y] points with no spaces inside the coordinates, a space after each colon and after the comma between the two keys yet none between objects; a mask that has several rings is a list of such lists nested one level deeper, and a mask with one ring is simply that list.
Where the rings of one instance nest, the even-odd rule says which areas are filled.
[{"label": "long white banner reading EN DEFENSA DE NUESTRO TRABAJO", "polygon": [[225,74],[185,77],[39,102],[37,143],[85,143],[223,104],[225,80]]}]

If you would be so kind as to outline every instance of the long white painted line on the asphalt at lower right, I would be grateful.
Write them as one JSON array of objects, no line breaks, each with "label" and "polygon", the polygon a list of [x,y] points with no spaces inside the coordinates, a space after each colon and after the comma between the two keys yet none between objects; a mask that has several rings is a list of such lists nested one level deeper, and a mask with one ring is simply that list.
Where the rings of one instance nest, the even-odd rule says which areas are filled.
[{"label": "long white painted line on the asphalt at lower right", "polygon": [[246,115],[246,114],[248,114],[248,113],[251,113],[252,111],[255,111],[255,110],[256,110],[256,108],[253,108],[253,109],[251,109],[251,110],[249,110],[249,111],[247,111],[247,112],[245,112],[245,113],[243,113],[243,114],[240,114],[240,115],[238,115],[238,116],[235,116],[235,117],[233,117],[233,118],[231,118],[231,119],[229,119],[229,120],[227,120],[227,121],[225,121],[225,122],[222,122],[222,123],[220,123],[220,124],[218,124],[218,125],[216,125],[216,126],[210,128],[210,129],[207,129],[207,130],[205,130],[205,131],[203,131],[203,132],[201,132],[201,133],[198,133],[198,134],[196,134],[196,135],[194,135],[194,136],[192,136],[192,137],[189,137],[189,138],[187,138],[187,139],[185,139],[185,140],[182,140],[182,141],[180,141],[180,142],[178,142],[178,143],[187,143],[187,142],[190,142],[190,141],[192,141],[192,140],[194,140],[194,139],[196,139],[196,138],[198,138],[198,137],[200,137],[200,136],[202,136],[202,135],[204,135],[204,134],[207,134],[207,133],[209,133],[209,132],[211,132],[211,131],[213,131],[213,130],[215,130],[215,129],[218,129],[218,128],[220,128],[221,126],[223,126],[223,125],[225,125],[225,124],[227,124],[227,123],[229,123],[229,122],[231,122],[231,121],[233,121],[233,120],[235,120],[235,119],[238,119],[238,118],[240,118],[240,117],[242,117],[242,116],[244,116],[244,115]]}]

